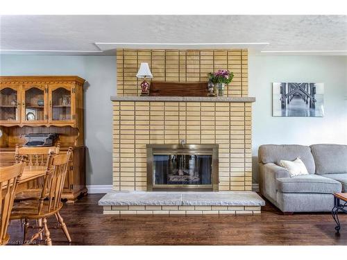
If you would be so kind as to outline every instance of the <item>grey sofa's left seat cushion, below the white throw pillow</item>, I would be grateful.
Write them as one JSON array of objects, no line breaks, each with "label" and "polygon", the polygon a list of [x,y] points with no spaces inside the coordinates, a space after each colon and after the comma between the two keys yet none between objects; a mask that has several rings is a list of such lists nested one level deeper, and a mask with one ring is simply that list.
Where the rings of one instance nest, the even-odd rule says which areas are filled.
[{"label": "grey sofa's left seat cushion, below the white throw pillow", "polygon": [[298,175],[277,179],[277,189],[282,193],[334,193],[341,192],[341,183],[321,175]]}]

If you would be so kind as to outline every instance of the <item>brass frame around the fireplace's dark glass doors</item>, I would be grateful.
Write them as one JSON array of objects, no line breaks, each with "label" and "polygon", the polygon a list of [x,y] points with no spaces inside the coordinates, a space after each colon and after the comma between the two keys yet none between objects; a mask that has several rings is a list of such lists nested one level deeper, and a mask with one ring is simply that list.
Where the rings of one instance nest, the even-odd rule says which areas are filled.
[{"label": "brass frame around the fireplace's dark glass doors", "polygon": [[[219,190],[219,145],[218,144],[147,144],[147,191],[218,191]],[[154,153],[153,153],[154,150]],[[212,155],[212,184],[154,184],[153,155]]]}]

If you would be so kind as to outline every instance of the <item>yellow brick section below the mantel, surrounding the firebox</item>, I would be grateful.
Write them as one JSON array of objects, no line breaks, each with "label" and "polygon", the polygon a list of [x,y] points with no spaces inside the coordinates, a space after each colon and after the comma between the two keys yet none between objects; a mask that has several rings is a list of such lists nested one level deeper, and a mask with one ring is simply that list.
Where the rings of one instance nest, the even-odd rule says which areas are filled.
[{"label": "yellow brick section below the mantel, surrounding the firebox", "polygon": [[251,191],[251,103],[113,101],[113,189],[146,191],[146,144],[219,144],[219,190]]}]

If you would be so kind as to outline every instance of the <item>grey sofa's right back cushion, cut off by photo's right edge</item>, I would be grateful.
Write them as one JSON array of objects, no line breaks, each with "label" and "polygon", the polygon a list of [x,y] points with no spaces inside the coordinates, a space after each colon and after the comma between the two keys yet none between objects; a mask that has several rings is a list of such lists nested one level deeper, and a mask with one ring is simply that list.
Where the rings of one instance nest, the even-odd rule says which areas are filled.
[{"label": "grey sofa's right back cushion, cut off by photo's right edge", "polygon": [[347,173],[347,146],[314,144],[311,147],[316,174]]}]

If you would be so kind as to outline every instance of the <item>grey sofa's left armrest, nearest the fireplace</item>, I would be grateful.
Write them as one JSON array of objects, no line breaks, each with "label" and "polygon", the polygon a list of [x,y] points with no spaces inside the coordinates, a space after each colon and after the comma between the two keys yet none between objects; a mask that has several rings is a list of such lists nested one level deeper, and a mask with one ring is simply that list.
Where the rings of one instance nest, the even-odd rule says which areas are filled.
[{"label": "grey sofa's left armrest, nearest the fireplace", "polygon": [[289,177],[289,171],[276,164],[259,164],[259,188],[262,195],[269,200],[276,202],[277,200],[277,184],[276,180],[281,177]]}]

